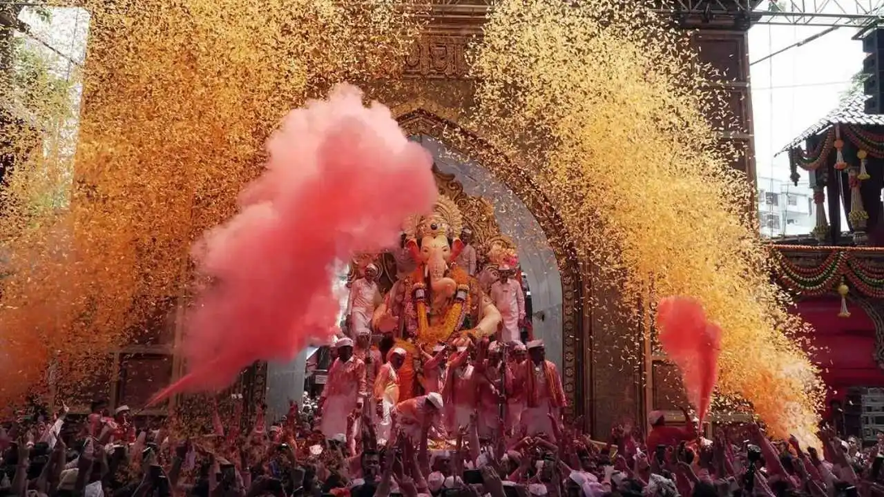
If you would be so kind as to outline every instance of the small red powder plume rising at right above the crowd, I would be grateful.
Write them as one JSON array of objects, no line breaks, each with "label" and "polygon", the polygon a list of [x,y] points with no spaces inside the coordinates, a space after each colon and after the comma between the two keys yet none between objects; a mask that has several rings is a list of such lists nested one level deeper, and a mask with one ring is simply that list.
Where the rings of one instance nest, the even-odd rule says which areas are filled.
[{"label": "small red powder plume rising at right above the crowd", "polygon": [[664,352],[682,371],[688,400],[702,422],[718,379],[721,329],[706,319],[695,299],[667,297],[657,308],[657,329]]}]

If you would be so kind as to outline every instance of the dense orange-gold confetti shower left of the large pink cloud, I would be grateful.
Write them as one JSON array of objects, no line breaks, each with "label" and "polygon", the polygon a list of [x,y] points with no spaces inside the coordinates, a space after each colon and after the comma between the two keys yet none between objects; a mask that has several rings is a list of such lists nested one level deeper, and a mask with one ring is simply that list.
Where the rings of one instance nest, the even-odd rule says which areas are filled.
[{"label": "dense orange-gold confetti shower left of the large pink cloud", "polygon": [[[54,173],[64,161],[34,153],[33,136],[6,147],[18,161],[0,220],[10,265],[0,371],[17,381],[0,386],[0,401],[40,383],[55,351],[57,374],[88,379],[92,358],[126,343],[157,302],[182,297],[191,242],[232,213],[278,119],[337,81],[395,77],[390,61],[419,29],[402,4],[84,5],[92,22],[72,187]],[[27,101],[63,120],[54,104]],[[59,187],[69,208],[34,207]]]}]

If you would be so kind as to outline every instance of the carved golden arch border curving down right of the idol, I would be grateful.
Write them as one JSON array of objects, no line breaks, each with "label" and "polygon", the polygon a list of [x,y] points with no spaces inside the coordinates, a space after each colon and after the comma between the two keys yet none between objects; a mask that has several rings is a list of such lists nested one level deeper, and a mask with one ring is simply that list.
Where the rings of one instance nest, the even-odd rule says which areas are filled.
[{"label": "carved golden arch border curving down right of the idol", "polygon": [[[491,172],[495,178],[512,190],[525,204],[543,229],[556,257],[561,275],[562,294],[562,383],[568,395],[568,415],[590,415],[586,400],[591,399],[591,382],[585,376],[590,371],[586,363],[589,333],[584,326],[583,294],[589,288],[572,238],[564,223],[552,208],[549,199],[522,167],[494,148],[492,143],[470,132],[457,123],[439,117],[423,108],[393,110],[396,120],[408,134],[431,136],[446,144],[453,152],[469,157]],[[587,398],[582,398],[582,395]]]}]

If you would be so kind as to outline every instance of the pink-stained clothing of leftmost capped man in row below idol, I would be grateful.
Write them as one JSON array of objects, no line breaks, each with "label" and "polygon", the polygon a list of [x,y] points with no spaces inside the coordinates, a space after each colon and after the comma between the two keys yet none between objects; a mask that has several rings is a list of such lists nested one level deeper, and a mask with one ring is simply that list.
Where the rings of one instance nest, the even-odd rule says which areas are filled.
[{"label": "pink-stained clothing of leftmost capped man in row below idol", "polygon": [[365,363],[355,356],[350,356],[346,363],[335,359],[320,396],[323,410],[319,427],[326,438],[347,434],[347,417],[367,395]]}]

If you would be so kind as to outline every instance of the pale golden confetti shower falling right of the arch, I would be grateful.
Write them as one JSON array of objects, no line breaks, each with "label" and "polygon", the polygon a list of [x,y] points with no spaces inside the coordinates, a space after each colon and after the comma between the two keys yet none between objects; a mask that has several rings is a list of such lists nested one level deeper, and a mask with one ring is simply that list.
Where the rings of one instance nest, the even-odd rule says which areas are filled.
[{"label": "pale golden confetti shower falling right of the arch", "polygon": [[745,214],[751,183],[704,117],[724,103],[679,34],[624,5],[501,0],[473,65],[476,123],[536,172],[620,311],[697,297],[724,331],[722,394],[812,441],[818,380],[787,336],[801,323]]}]

